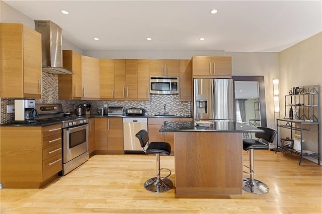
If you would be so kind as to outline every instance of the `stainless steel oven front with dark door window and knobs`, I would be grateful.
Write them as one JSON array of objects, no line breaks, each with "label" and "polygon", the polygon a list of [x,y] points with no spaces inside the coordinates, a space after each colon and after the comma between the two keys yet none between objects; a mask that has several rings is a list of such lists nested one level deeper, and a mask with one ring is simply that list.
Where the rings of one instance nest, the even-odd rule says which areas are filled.
[{"label": "stainless steel oven front with dark door window and knobs", "polygon": [[[78,125],[68,126],[62,129],[63,135],[63,169],[62,175],[66,175],[73,169],[89,160],[89,124],[88,119],[82,118]],[[72,122],[76,123],[76,122]]]}]

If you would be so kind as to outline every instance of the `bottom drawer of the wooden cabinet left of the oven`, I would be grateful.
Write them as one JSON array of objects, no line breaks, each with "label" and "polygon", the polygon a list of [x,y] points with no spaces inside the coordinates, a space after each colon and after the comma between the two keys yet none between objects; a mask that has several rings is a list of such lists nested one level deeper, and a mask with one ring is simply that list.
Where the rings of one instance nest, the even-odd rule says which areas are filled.
[{"label": "bottom drawer of the wooden cabinet left of the oven", "polygon": [[62,170],[62,153],[59,153],[43,162],[43,180],[48,179]]}]

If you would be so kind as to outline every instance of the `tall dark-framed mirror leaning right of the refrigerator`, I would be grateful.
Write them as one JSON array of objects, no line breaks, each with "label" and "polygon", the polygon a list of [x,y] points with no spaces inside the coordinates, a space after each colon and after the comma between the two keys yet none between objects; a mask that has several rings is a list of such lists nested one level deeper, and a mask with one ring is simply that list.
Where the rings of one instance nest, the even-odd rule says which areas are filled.
[{"label": "tall dark-framed mirror leaning right of the refrigerator", "polygon": [[232,76],[235,120],[253,127],[267,126],[264,76]]}]

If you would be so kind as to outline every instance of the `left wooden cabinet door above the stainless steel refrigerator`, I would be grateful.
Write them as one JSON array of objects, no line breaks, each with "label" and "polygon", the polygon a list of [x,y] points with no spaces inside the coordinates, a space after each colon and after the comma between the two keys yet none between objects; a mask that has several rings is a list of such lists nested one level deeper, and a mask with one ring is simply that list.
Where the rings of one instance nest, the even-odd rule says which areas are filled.
[{"label": "left wooden cabinet door above the stainless steel refrigerator", "polygon": [[212,57],[211,56],[193,56],[192,72],[194,76],[212,75]]}]

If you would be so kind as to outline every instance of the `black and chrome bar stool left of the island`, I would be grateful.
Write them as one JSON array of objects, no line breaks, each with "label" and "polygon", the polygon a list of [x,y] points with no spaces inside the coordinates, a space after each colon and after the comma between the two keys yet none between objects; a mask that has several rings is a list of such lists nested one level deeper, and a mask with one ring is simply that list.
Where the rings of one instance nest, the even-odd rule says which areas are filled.
[{"label": "black and chrome bar stool left of the island", "polygon": [[[156,177],[150,178],[145,181],[144,188],[155,193],[169,191],[173,187],[172,181],[168,178],[171,175],[171,170],[168,168],[160,169],[160,154],[170,155],[171,145],[167,142],[149,143],[149,136],[144,129],[140,130],[135,136],[139,139],[141,147],[146,154],[155,154],[156,156]],[[144,149],[146,146],[147,148]],[[170,172],[166,177],[160,176],[160,170],[163,169],[169,170]]]}]

